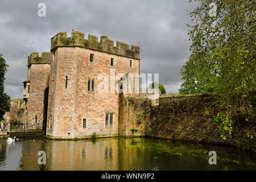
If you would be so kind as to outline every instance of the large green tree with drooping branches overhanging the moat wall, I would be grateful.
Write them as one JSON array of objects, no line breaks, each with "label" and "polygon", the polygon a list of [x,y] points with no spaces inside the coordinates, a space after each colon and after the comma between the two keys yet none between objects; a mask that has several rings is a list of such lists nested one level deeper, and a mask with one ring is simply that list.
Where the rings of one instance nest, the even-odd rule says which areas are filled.
[{"label": "large green tree with drooping branches overhanging the moat wall", "polygon": [[[255,0],[190,0],[191,55],[181,68],[181,94],[213,92],[225,110],[217,116],[222,138],[231,137],[234,115],[253,113],[255,96]],[[210,16],[210,3],[217,7]]]}]

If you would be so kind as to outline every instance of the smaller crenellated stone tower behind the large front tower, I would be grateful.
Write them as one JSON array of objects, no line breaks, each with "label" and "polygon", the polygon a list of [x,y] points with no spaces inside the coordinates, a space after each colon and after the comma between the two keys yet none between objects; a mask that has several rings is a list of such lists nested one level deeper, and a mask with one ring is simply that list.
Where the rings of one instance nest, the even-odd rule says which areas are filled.
[{"label": "smaller crenellated stone tower behind the large front tower", "polygon": [[[51,52],[31,53],[27,61],[27,80],[23,82],[24,123],[30,129],[36,124],[42,128],[46,125],[48,106],[49,71],[51,66]],[[27,126],[26,125],[26,126]]]}]

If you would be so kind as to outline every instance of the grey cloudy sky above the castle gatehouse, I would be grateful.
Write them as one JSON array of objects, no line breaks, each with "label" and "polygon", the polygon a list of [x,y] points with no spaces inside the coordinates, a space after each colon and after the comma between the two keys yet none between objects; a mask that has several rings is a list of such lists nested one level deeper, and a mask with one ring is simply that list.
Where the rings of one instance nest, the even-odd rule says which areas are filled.
[{"label": "grey cloudy sky above the castle gatehouse", "polygon": [[[46,17],[38,16],[38,4],[46,4]],[[79,30],[138,45],[141,41],[141,73],[159,73],[167,92],[178,92],[179,69],[187,61],[189,45],[188,0],[126,1],[25,1],[0,0],[0,53],[9,64],[5,92],[23,98],[27,56],[49,51],[51,38],[60,31]]]}]

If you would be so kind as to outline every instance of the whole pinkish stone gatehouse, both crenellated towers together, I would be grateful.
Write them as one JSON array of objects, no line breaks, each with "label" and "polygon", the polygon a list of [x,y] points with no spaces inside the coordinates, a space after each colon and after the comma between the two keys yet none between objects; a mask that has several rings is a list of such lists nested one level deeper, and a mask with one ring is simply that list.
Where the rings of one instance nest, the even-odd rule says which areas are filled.
[{"label": "whole pinkish stone gatehouse, both crenellated towers together", "polygon": [[[24,99],[30,86],[27,119],[46,108],[43,98],[48,97],[47,135],[53,138],[86,138],[93,133],[98,137],[118,136],[118,92],[115,89],[113,92],[113,86],[122,80],[120,75],[139,75],[139,54],[138,46],[129,48],[122,42],[114,46],[107,36],[101,36],[98,42],[97,36],[89,34],[85,39],[80,31],[72,31],[71,37],[67,37],[67,32],[59,32],[51,39],[51,52],[43,52],[42,57],[32,53],[28,57],[31,71],[24,82]],[[33,74],[38,76],[34,78]],[[104,92],[101,79],[107,84]],[[139,84],[132,83],[132,89],[139,90]]]}]

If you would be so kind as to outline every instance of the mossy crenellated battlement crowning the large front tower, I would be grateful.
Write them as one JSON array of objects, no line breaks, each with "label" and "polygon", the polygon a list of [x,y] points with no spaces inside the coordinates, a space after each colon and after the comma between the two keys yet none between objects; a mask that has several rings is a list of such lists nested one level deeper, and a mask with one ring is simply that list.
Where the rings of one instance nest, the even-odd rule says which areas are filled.
[{"label": "mossy crenellated battlement crowning the large front tower", "polygon": [[51,51],[57,47],[84,47],[96,51],[112,53],[119,56],[131,57],[132,59],[139,59],[139,47],[129,44],[118,42],[114,46],[114,41],[109,39],[108,36],[101,36],[100,42],[96,35],[88,35],[88,39],[84,38],[84,32],[72,31],[71,37],[67,37],[67,32],[59,32],[51,39]]}]

